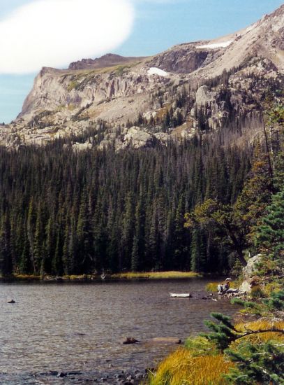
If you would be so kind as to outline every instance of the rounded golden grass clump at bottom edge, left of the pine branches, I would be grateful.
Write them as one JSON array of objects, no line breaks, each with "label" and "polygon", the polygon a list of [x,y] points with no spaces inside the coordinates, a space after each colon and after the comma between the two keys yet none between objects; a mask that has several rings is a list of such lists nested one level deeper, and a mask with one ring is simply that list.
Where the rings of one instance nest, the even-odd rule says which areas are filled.
[{"label": "rounded golden grass clump at bottom edge, left of the pine branches", "polygon": [[150,385],[221,385],[233,364],[222,355],[193,357],[187,349],[170,354],[151,374]]}]

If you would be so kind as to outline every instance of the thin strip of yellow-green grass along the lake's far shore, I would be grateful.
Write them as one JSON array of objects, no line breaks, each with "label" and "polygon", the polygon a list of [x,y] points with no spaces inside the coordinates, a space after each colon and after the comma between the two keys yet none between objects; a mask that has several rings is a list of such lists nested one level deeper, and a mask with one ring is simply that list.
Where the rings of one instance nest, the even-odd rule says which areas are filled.
[{"label": "thin strip of yellow-green grass along the lake's far shore", "polygon": [[195,272],[128,272],[112,274],[115,279],[176,279],[176,278],[197,278],[201,275]]}]

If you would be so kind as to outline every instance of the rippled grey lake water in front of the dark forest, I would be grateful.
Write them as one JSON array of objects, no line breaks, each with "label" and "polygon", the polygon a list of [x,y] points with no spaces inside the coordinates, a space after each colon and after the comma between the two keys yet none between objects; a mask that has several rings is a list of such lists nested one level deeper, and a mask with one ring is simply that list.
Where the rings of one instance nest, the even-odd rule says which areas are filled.
[{"label": "rippled grey lake water in front of the dark forest", "polygon": [[[153,367],[173,347],[151,338],[184,340],[204,330],[211,311],[236,311],[225,299],[170,298],[170,292],[198,293],[206,283],[0,283],[0,384],[48,384],[32,374],[50,370]],[[17,303],[7,304],[11,298]],[[121,344],[127,336],[140,344]]]}]

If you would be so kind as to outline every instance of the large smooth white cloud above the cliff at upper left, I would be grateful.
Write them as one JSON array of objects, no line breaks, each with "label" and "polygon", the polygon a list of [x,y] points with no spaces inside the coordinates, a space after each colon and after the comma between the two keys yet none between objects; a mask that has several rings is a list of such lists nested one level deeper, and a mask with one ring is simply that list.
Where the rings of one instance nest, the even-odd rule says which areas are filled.
[{"label": "large smooth white cloud above the cliff at upper left", "polygon": [[129,36],[130,0],[37,0],[0,21],[0,73],[61,67],[110,52]]}]

